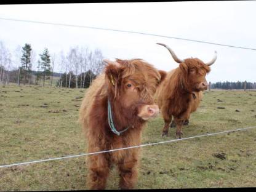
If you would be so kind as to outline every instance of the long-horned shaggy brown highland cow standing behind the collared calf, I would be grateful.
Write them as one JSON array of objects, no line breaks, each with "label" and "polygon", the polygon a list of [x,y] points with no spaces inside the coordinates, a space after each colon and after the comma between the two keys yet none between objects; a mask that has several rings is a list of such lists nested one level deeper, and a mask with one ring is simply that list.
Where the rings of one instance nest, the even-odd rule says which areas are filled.
[{"label": "long-horned shaggy brown highland cow standing behind the collared calf", "polygon": [[200,91],[206,90],[208,87],[206,74],[210,72],[209,66],[217,59],[217,52],[215,51],[214,58],[208,63],[204,63],[198,58],[180,60],[168,46],[158,44],[166,47],[175,62],[180,63],[178,68],[167,73],[155,95],[164,118],[162,136],[168,134],[170,122],[174,116],[177,125],[176,137],[181,138],[183,123],[198,107],[201,99],[199,97],[202,97]]}]

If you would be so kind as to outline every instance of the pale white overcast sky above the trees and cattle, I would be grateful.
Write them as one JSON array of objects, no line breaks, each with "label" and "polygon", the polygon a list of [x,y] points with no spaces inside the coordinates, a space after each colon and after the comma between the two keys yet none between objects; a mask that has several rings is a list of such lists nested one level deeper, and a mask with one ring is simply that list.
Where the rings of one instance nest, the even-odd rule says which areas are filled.
[{"label": "pale white overcast sky above the trees and cattle", "polygon": [[[0,5],[0,17],[138,31],[256,49],[256,1]],[[156,42],[167,44],[179,58],[197,57],[204,62],[211,60],[217,50],[217,61],[207,81],[256,82],[255,50],[1,19],[0,41],[11,51],[17,45],[30,43],[37,55],[44,47],[58,54],[61,50],[66,53],[71,46],[87,46],[101,49],[103,56],[111,60],[143,58],[166,71],[178,63]]]}]

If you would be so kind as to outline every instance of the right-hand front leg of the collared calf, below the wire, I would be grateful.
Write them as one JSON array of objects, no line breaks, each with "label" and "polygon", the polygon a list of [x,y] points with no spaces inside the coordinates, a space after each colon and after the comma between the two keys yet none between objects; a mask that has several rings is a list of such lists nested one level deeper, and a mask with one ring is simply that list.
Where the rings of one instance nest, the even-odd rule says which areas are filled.
[{"label": "right-hand front leg of the collared calf, below the wire", "polygon": [[121,163],[118,164],[121,189],[132,189],[135,186],[138,178],[138,157],[137,154],[126,157]]}]

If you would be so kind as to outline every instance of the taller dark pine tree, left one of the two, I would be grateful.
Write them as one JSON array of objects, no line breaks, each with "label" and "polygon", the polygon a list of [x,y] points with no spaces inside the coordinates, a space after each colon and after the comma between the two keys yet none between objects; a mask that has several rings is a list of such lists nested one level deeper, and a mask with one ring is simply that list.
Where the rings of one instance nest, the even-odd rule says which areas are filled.
[{"label": "taller dark pine tree, left one of the two", "polygon": [[26,84],[26,76],[27,74],[31,73],[31,68],[32,68],[32,64],[31,64],[31,45],[30,44],[25,44],[24,47],[22,47],[22,58],[21,63],[22,63],[22,78],[24,75],[25,81],[24,84]]}]

